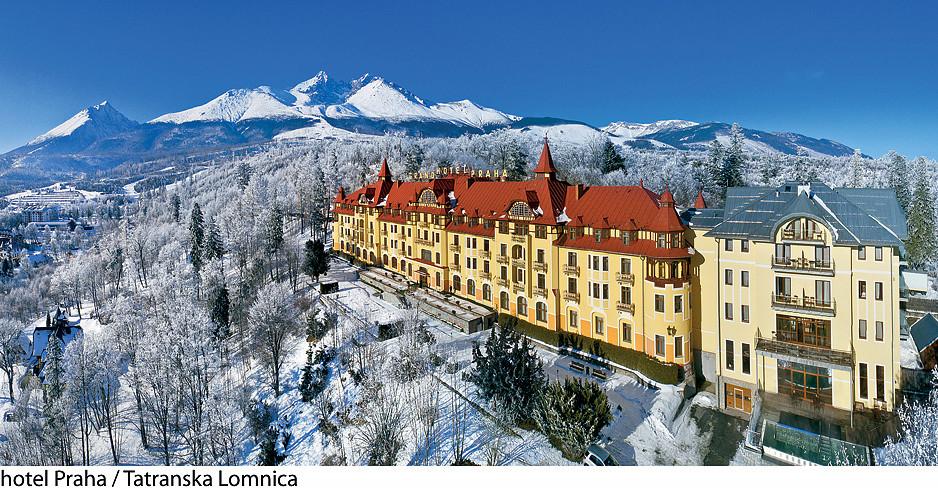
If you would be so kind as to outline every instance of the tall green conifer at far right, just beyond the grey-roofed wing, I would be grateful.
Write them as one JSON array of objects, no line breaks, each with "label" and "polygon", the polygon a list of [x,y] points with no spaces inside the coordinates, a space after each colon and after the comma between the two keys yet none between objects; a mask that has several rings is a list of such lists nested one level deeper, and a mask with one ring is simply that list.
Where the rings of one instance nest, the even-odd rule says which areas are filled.
[{"label": "tall green conifer at far right, just beyond the grey-roofed wing", "polygon": [[925,158],[915,160],[915,184],[909,205],[909,240],[906,249],[909,262],[917,268],[925,268],[938,253],[938,238],[935,231],[935,198],[928,179],[928,164]]}]

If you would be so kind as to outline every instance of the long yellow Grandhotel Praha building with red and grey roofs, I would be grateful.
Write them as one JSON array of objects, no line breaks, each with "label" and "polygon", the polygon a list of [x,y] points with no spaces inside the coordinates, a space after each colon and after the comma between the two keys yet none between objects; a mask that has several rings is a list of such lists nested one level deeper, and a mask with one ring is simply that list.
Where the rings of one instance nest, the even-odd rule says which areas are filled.
[{"label": "long yellow Grandhotel Praha building with red and grey roofs", "polygon": [[[495,174],[496,176],[498,174]],[[883,189],[698,195],[557,178],[545,141],[527,181],[453,173],[335,198],[334,248],[556,331],[628,347],[715,385],[830,420],[892,410],[905,217]],[[803,406],[799,406],[803,405]]]}]

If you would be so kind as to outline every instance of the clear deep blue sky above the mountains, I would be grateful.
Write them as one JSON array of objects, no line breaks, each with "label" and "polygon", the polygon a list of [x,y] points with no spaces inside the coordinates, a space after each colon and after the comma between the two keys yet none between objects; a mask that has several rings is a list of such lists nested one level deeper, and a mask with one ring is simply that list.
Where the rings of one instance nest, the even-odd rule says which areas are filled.
[{"label": "clear deep blue sky above the mountains", "polygon": [[324,69],[519,115],[938,157],[938,2],[38,3],[0,7],[0,152],[104,99],[143,121]]}]

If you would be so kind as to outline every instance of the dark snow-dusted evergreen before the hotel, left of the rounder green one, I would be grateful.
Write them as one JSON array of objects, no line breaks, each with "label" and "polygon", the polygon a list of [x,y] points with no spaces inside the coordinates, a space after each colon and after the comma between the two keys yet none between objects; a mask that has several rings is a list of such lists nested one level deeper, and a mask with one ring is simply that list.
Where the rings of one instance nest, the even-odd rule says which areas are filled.
[{"label": "dark snow-dusted evergreen before the hotel, left of the rounder green one", "polygon": [[544,368],[531,343],[511,323],[493,327],[484,350],[473,342],[472,364],[468,379],[486,401],[517,422],[531,418],[546,382]]}]

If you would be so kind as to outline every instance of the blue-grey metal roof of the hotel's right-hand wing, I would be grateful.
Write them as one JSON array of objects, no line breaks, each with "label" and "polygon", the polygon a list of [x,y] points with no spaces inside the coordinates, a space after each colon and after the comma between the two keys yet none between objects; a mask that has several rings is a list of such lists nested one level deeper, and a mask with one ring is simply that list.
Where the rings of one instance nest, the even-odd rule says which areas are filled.
[{"label": "blue-grey metal roof of the hotel's right-hand wing", "polygon": [[831,189],[820,182],[773,187],[732,187],[723,221],[706,236],[772,240],[790,218],[824,223],[835,245],[903,246],[905,214],[890,189]]}]

